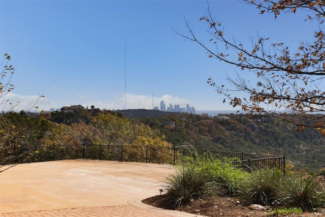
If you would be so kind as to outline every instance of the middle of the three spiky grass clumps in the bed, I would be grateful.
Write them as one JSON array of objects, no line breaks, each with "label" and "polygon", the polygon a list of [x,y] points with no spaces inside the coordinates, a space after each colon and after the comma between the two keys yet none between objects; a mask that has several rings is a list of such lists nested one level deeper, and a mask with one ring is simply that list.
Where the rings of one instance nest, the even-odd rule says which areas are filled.
[{"label": "middle of the three spiky grass clumps in the bed", "polygon": [[276,199],[275,188],[282,172],[278,169],[262,169],[251,172],[243,181],[242,197],[246,204],[268,205]]}]

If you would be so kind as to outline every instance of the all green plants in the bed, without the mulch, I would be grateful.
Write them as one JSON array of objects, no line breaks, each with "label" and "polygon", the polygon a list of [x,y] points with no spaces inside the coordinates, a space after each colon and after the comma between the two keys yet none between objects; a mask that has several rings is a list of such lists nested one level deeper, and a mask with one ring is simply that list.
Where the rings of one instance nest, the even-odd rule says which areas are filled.
[{"label": "all green plants in the bed, without the mulch", "polygon": [[[325,207],[325,192],[321,183],[311,177],[294,172],[284,176],[278,169],[247,173],[229,163],[196,156],[185,158],[183,167],[167,178],[166,196],[178,207],[191,199],[226,193],[240,193],[247,205],[270,205],[273,200],[278,200],[284,207],[283,213],[300,213],[301,210]],[[210,184],[216,183],[210,189]],[[224,191],[224,188],[228,191]]]}]

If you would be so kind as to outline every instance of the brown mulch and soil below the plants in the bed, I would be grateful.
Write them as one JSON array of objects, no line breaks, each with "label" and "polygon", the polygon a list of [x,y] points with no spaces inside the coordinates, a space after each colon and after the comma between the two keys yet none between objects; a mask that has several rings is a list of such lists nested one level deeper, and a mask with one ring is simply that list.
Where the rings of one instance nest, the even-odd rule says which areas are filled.
[{"label": "brown mulch and soil below the plants in the bed", "polygon": [[[251,210],[246,206],[237,205],[238,199],[231,197],[222,198],[206,198],[203,200],[192,201],[190,204],[182,206],[179,211],[193,213],[203,216],[222,216],[222,217],[263,217],[267,215],[267,211]],[[145,204],[156,206],[164,209],[175,209],[173,204],[169,204],[164,195],[154,196],[142,201]],[[275,216],[275,215],[273,215]],[[301,214],[281,215],[289,217],[323,217],[323,212],[304,212]]]}]

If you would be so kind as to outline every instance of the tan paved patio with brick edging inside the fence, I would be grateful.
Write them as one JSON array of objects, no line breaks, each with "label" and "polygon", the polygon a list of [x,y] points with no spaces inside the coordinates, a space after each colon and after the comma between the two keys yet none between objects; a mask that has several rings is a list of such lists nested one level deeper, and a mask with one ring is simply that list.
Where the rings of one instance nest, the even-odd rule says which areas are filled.
[{"label": "tan paved patio with brick edging inside the fence", "polygon": [[20,164],[0,173],[1,216],[194,216],[140,201],[158,194],[173,167],[66,160]]}]

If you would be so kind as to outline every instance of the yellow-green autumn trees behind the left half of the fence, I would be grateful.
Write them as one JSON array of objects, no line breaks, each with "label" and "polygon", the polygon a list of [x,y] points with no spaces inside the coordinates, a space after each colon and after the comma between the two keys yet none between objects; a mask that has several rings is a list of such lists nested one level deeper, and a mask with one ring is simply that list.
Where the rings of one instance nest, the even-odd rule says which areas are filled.
[{"label": "yellow-green autumn trees behind the left half of the fence", "polygon": [[[71,112],[70,112],[71,113]],[[157,130],[134,124],[113,112],[100,112],[71,125],[52,123],[52,129],[42,140],[46,145],[150,145],[171,146]]]}]

